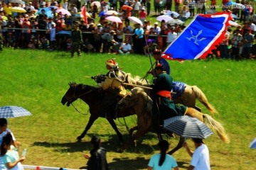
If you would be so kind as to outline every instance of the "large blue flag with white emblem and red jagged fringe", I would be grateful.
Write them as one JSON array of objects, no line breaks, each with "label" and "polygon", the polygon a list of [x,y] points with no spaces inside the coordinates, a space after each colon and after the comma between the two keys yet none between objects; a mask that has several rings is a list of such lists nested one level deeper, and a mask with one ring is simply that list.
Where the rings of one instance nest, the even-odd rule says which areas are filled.
[{"label": "large blue flag with white emblem and red jagged fringe", "polygon": [[198,15],[164,50],[163,57],[170,60],[205,58],[225,38],[230,13]]}]

